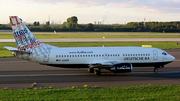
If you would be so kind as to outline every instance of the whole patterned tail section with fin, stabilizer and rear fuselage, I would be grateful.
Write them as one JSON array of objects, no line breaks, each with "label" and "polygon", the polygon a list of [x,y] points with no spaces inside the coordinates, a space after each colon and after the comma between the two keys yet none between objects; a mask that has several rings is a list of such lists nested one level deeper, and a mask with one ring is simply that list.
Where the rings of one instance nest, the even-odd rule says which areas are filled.
[{"label": "whole patterned tail section with fin, stabilizer and rear fuselage", "polygon": [[22,59],[40,63],[48,62],[53,46],[41,43],[19,17],[10,16],[9,18],[17,48],[8,46],[5,48],[12,51],[14,56]]}]

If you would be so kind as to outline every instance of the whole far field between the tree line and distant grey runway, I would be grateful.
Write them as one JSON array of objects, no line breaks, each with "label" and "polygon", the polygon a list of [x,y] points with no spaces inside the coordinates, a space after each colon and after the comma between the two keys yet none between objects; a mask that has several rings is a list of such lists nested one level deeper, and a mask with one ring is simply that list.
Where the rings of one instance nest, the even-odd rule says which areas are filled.
[{"label": "whole far field between the tree line and distant grey runway", "polygon": [[[180,33],[153,32],[33,32],[37,38],[180,38]],[[0,39],[13,39],[12,32],[0,32]]]}]

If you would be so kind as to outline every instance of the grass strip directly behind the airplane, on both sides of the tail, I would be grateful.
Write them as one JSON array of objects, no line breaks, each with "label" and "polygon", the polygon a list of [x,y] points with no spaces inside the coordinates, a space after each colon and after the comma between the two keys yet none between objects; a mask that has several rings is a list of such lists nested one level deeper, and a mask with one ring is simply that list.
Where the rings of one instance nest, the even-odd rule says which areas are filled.
[{"label": "grass strip directly behind the airplane, on both sides of the tail", "polygon": [[[117,46],[141,46],[141,45],[152,45],[155,48],[160,49],[178,49],[180,45],[177,45],[177,41],[160,41],[160,42],[46,42],[58,47],[117,47]],[[0,57],[11,57],[12,53],[6,50],[3,46],[16,47],[15,42],[1,42],[0,43]]]}]

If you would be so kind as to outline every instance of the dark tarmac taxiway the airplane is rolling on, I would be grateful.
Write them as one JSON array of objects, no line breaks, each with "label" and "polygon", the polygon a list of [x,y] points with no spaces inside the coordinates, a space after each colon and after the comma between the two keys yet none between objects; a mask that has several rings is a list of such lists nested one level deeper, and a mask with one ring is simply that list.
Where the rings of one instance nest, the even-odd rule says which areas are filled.
[{"label": "dark tarmac taxiway the airplane is rolling on", "polygon": [[134,67],[131,73],[105,73],[101,76],[88,73],[87,69],[50,67],[16,57],[0,58],[0,89],[30,88],[34,82],[36,87],[53,88],[180,84],[180,49],[166,51],[176,60],[159,69],[158,73],[153,72],[153,67]]}]

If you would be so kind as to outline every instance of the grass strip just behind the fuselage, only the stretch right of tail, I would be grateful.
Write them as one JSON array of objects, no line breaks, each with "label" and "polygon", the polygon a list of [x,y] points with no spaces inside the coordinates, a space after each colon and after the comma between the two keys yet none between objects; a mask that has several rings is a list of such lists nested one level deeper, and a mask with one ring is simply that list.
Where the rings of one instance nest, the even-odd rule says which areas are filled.
[{"label": "grass strip just behind the fuselage, only the stretch right of tail", "polygon": [[58,47],[119,47],[119,46],[141,46],[152,45],[155,48],[160,49],[178,49],[180,45],[177,45],[176,41],[127,41],[127,42],[46,42]]}]

